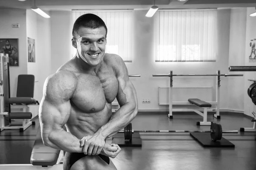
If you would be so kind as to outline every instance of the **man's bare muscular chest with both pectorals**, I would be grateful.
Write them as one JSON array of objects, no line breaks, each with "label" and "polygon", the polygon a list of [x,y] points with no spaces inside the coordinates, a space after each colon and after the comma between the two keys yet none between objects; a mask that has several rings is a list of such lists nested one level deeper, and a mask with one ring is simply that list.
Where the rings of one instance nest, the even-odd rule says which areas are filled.
[{"label": "man's bare muscular chest with both pectorals", "polygon": [[99,71],[97,75],[81,74],[78,82],[72,99],[77,106],[101,110],[106,102],[111,103],[116,98],[118,81],[111,70]]}]

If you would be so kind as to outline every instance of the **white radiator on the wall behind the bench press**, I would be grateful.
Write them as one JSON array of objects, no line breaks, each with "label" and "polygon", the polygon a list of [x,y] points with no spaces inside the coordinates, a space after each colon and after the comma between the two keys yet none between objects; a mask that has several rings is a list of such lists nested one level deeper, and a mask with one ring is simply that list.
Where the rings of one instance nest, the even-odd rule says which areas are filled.
[{"label": "white radiator on the wall behind the bench press", "polygon": [[[159,105],[169,105],[169,87],[158,88]],[[188,102],[190,98],[213,101],[212,86],[176,86],[172,87],[172,102]]]}]

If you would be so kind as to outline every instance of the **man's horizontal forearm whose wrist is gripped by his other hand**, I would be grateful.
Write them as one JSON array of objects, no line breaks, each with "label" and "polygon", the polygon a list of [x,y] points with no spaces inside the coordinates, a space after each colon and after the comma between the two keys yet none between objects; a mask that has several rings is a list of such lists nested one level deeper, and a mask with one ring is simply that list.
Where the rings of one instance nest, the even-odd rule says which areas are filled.
[{"label": "man's horizontal forearm whose wrist is gripped by his other hand", "polygon": [[83,152],[83,147],[80,147],[80,139],[64,129],[52,131],[47,137],[44,137],[43,134],[43,139],[45,145],[58,150],[76,153]]}]

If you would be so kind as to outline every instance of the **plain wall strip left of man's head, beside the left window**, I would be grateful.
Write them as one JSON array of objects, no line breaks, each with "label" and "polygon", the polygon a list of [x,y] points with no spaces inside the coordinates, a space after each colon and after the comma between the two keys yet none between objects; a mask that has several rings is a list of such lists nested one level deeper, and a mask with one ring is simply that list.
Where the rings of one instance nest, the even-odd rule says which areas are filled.
[{"label": "plain wall strip left of man's head, beside the left window", "polygon": [[72,56],[71,11],[51,11],[51,74]]}]

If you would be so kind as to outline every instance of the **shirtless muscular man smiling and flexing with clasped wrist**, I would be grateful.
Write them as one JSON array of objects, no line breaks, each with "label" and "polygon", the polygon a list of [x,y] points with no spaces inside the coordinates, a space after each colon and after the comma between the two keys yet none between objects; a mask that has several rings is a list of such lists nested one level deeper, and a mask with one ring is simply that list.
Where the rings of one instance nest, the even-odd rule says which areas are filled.
[{"label": "shirtless muscular man smiling and flexing with clasped wrist", "polygon": [[[122,58],[105,53],[107,27],[101,18],[84,14],[72,32],[76,56],[44,84],[42,139],[66,151],[64,170],[116,170],[108,156],[115,157],[120,148],[105,141],[135,118],[137,94]],[[120,108],[112,113],[115,98]]]}]

